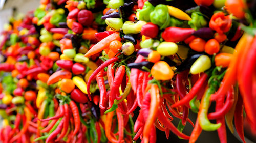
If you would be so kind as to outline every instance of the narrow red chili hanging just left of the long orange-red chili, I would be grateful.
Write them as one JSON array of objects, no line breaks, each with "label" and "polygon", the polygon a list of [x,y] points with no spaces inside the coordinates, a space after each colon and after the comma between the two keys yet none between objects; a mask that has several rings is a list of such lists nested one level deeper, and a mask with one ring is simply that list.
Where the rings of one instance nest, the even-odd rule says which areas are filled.
[{"label": "narrow red chili hanging just left of the long orange-red chili", "polygon": [[137,102],[139,107],[142,107],[142,100],[143,100],[143,92],[142,92],[143,77],[144,77],[144,72],[140,72],[138,77],[138,86],[137,86],[137,92],[136,92]]}]

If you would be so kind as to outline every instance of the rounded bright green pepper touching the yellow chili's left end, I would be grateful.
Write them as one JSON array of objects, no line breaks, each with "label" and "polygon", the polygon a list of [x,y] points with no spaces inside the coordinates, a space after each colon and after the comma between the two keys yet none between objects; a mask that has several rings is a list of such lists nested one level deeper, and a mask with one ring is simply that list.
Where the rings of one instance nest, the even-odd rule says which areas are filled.
[{"label": "rounded bright green pepper touching the yellow chili's left end", "polygon": [[170,15],[166,5],[159,4],[154,11],[150,13],[150,21],[160,26],[160,29],[166,28],[170,23]]}]

